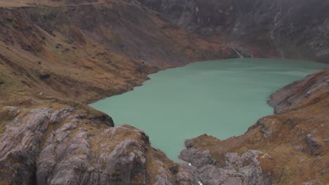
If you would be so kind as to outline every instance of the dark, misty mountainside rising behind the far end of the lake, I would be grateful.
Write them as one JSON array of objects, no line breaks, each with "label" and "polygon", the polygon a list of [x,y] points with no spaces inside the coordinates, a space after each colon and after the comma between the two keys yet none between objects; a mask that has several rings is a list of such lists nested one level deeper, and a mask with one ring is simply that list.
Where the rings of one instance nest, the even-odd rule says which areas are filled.
[{"label": "dark, misty mountainside rising behind the far end of the lake", "polygon": [[139,0],[165,18],[203,36],[220,36],[254,55],[276,48],[281,57],[328,62],[329,3],[325,0]]}]

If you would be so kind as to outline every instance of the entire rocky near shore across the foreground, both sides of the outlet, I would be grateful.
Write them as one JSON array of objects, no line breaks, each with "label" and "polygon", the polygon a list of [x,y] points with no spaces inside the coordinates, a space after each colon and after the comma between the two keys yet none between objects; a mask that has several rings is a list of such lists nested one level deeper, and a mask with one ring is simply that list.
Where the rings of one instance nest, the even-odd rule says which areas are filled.
[{"label": "entire rocky near shore across the foreground, both sides of the outlet", "polygon": [[[180,155],[186,164],[153,149],[143,131],[114,127],[110,116],[83,104],[62,109],[3,107],[0,115],[8,124],[0,132],[0,184],[290,184],[297,176],[285,179],[280,170],[288,165],[283,161],[299,155],[305,166],[300,168],[299,161],[289,167],[306,173],[300,184],[321,184],[328,177],[311,176],[306,169],[314,160],[323,165],[329,161],[328,137],[324,138],[328,115],[323,109],[329,101],[328,78],[325,69],[283,88],[314,92],[302,102],[297,93],[281,95],[279,90],[272,100],[290,97],[295,105],[260,118],[245,135],[224,141],[207,135],[187,139]],[[311,117],[319,122],[316,125],[303,120],[308,115],[300,116],[304,110],[312,114],[312,107],[322,116]],[[295,115],[296,110],[302,113]],[[285,139],[287,135],[291,138]],[[291,146],[283,157],[276,149],[286,144]],[[326,170],[324,166],[321,172]]]}]

